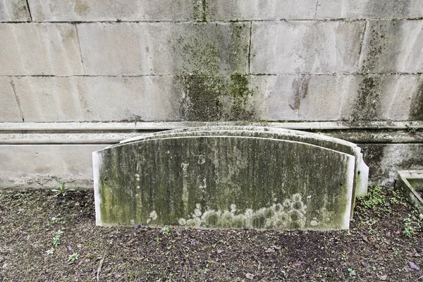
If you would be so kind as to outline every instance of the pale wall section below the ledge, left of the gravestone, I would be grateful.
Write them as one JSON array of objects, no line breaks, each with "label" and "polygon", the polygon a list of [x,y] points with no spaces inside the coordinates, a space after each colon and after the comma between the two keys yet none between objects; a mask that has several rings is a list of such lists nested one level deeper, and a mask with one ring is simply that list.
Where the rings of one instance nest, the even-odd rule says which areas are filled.
[{"label": "pale wall section below the ledge, left of the gravestone", "polygon": [[[0,145],[1,188],[92,188],[92,157],[105,145]],[[26,160],[26,161],[25,161]]]}]

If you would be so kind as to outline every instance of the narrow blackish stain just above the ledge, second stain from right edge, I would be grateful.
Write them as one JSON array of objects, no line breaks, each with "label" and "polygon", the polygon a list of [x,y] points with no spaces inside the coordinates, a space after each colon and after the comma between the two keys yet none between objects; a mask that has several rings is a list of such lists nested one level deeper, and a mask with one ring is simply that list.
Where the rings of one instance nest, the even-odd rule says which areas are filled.
[{"label": "narrow blackish stain just above the ledge, second stain from right edge", "polygon": [[351,118],[353,121],[374,121],[379,117],[381,78],[367,75],[360,82]]}]

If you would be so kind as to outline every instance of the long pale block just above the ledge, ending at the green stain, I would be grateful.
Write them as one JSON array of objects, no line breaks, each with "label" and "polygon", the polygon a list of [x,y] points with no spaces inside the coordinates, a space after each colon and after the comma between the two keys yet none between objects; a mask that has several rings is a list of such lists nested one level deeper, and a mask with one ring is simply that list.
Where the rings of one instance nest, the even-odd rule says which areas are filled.
[{"label": "long pale block just above the ledge, ending at the green stain", "polygon": [[176,119],[173,77],[14,78],[25,121]]}]

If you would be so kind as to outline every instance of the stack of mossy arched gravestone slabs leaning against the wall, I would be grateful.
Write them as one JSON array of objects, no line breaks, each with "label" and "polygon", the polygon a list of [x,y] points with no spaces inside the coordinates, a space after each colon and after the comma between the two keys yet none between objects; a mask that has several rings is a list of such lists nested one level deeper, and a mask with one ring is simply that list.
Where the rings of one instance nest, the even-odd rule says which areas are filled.
[{"label": "stack of mossy arched gravestone slabs leaning against the wall", "polygon": [[352,143],[274,128],[169,130],[94,152],[93,162],[103,226],[343,229],[367,185]]}]

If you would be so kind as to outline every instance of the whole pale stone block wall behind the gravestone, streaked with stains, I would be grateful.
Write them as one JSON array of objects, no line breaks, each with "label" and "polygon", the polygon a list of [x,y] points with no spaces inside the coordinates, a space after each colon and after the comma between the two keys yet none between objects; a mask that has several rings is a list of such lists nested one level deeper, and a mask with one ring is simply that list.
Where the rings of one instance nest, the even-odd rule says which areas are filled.
[{"label": "whole pale stone block wall behind the gravestone, streaked with stains", "polygon": [[[42,144],[41,133],[80,136],[72,148],[82,164],[90,163],[84,145],[200,122],[307,130],[334,122],[335,135],[377,123],[367,132],[377,136],[414,126],[413,144],[421,144],[420,0],[0,0],[0,38],[0,146],[10,152],[0,186],[47,173],[9,165],[13,146],[75,146],[66,138]],[[99,122],[101,130],[90,129]],[[109,139],[92,144],[87,135],[99,131]],[[390,145],[385,155],[393,156],[392,142],[404,155],[407,145],[395,138],[377,141],[374,152]],[[375,182],[422,164],[374,158]],[[68,173],[70,159],[52,176],[89,183],[90,166]]]}]

